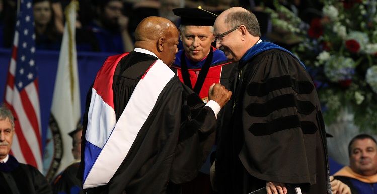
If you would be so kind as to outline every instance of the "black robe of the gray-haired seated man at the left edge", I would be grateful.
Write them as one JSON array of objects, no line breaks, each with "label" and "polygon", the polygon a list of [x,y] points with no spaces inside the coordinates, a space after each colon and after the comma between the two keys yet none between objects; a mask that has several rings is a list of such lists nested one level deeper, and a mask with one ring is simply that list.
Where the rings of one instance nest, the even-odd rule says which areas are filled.
[{"label": "black robe of the gray-haired seated man at the left edge", "polygon": [[0,193],[50,194],[52,190],[37,168],[9,155],[6,163],[0,163]]}]

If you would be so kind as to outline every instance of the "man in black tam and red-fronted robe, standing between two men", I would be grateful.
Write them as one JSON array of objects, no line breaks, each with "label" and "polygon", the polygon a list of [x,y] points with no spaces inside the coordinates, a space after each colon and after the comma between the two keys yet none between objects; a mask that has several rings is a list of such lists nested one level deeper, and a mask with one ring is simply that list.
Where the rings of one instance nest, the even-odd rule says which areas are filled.
[{"label": "man in black tam and red-fronted robe, standing between two men", "polygon": [[[224,52],[211,46],[214,42],[213,23],[217,15],[199,8],[176,8],[175,15],[181,17],[179,38],[183,50],[178,51],[171,69],[180,80],[194,90],[204,103],[208,102],[208,90],[213,83],[221,83],[230,89],[234,79],[232,70],[237,63],[227,60]],[[234,74],[234,73],[233,73]],[[230,118],[232,103],[225,105],[217,116],[217,130],[226,126]],[[227,116],[228,115],[228,116]],[[218,136],[213,133],[212,136]],[[209,166],[209,165],[208,165]],[[183,185],[182,193],[210,193],[209,168],[202,168],[193,181]]]}]

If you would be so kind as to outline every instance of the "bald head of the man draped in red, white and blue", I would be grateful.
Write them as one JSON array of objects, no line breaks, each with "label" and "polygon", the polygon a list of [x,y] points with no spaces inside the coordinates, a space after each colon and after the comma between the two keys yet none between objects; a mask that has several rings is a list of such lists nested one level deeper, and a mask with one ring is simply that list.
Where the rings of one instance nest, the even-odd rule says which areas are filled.
[{"label": "bald head of the man draped in red, white and blue", "polygon": [[135,30],[135,48],[153,52],[170,66],[178,52],[178,29],[170,20],[151,16],[143,19]]}]

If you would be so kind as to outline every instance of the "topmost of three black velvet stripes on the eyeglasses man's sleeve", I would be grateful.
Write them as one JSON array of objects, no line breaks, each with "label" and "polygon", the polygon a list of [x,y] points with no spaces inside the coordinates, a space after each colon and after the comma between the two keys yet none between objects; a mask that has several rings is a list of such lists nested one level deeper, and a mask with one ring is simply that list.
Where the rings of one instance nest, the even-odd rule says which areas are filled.
[{"label": "topmost of three black velvet stripes on the eyeglasses man's sleeve", "polygon": [[298,94],[310,94],[314,89],[314,86],[309,81],[297,82],[295,79],[291,79],[289,75],[284,75],[270,78],[266,83],[250,83],[246,90],[249,96],[262,97],[271,91],[287,87],[292,87]]}]

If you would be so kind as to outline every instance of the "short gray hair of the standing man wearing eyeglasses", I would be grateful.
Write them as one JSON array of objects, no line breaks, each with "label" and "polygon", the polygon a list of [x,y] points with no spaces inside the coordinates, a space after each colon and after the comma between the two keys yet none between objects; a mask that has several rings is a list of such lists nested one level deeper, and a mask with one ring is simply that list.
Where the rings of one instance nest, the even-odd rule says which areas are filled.
[{"label": "short gray hair of the standing man wearing eyeglasses", "polygon": [[262,36],[257,17],[250,11],[234,11],[229,13],[227,18],[225,18],[225,24],[230,24],[231,28],[245,25],[251,35]]}]

